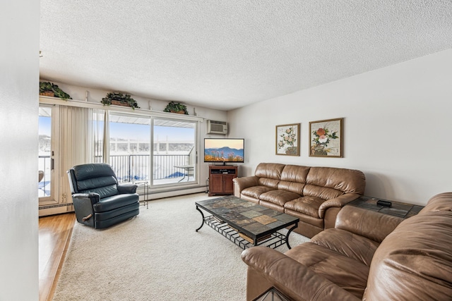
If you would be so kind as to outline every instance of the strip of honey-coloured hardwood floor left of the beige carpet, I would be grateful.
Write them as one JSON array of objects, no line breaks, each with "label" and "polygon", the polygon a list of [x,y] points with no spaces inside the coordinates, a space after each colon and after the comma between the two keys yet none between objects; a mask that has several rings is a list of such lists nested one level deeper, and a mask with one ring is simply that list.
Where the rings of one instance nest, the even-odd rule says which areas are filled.
[{"label": "strip of honey-coloured hardwood floor left of the beige carpet", "polygon": [[75,221],[73,212],[39,219],[40,301],[52,300]]}]

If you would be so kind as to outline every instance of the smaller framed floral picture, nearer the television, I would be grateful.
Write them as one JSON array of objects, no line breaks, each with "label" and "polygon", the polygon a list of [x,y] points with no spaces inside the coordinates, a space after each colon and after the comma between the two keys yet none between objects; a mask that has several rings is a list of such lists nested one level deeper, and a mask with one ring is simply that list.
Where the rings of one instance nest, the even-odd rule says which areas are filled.
[{"label": "smaller framed floral picture, nearer the television", "polygon": [[299,123],[276,125],[276,154],[299,156]]}]

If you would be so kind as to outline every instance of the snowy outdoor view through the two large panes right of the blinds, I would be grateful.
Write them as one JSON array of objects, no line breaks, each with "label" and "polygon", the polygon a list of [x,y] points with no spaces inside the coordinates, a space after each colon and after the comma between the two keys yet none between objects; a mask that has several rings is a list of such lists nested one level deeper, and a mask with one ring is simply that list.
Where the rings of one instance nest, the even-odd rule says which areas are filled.
[{"label": "snowy outdoor view through the two large panes right of the blinds", "polygon": [[[194,124],[188,125],[191,127],[154,125],[154,184],[177,183],[184,171],[174,166],[193,164],[195,131]],[[150,125],[110,122],[109,133],[110,164],[119,180],[151,180]]]}]

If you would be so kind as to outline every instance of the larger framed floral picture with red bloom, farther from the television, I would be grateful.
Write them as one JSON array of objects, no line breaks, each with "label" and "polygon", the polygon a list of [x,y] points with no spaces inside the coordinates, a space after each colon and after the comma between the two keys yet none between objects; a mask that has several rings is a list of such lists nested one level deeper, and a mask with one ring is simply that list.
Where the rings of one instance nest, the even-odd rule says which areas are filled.
[{"label": "larger framed floral picture with red bloom, farther from the television", "polygon": [[309,123],[309,156],[343,157],[343,118]]}]

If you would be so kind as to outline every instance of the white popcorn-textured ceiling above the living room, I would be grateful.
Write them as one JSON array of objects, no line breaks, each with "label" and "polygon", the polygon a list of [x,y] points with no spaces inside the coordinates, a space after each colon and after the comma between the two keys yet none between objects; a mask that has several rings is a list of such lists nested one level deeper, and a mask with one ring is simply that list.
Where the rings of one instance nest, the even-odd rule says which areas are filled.
[{"label": "white popcorn-textured ceiling above the living room", "polygon": [[41,0],[42,79],[212,109],[449,48],[451,0]]}]

